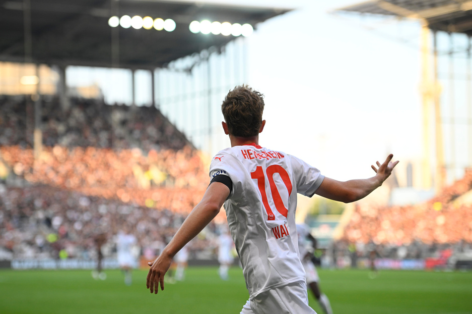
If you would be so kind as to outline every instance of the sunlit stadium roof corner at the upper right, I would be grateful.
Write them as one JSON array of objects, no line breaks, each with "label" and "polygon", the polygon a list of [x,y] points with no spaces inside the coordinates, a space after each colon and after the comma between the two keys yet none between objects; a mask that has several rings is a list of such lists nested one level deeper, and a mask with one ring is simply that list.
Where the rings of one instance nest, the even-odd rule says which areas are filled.
[{"label": "sunlit stadium roof corner at the upper right", "polygon": [[421,19],[425,20],[433,31],[465,33],[472,36],[470,0],[373,0],[336,11]]}]

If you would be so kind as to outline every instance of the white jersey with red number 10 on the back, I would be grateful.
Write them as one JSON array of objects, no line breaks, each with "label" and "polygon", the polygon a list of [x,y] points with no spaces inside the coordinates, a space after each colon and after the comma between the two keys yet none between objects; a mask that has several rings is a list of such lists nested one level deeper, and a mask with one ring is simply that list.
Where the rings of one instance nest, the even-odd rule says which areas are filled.
[{"label": "white jersey with red number 10 on the back", "polygon": [[219,174],[233,183],[224,209],[250,298],[305,281],[295,226],[297,193],[313,196],[323,182],[320,171],[296,157],[252,144],[216,154],[210,178]]}]

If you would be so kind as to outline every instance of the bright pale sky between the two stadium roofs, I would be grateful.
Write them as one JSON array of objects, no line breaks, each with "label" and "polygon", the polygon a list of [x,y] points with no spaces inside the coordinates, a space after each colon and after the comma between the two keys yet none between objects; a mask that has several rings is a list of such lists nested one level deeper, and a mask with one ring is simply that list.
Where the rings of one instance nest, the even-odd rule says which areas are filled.
[{"label": "bright pale sky between the two stadium roofs", "polygon": [[261,145],[338,180],[372,176],[370,165],[390,153],[419,158],[422,147],[419,48],[382,35],[407,31],[414,39],[419,24],[370,31],[329,13],[354,3],[270,1],[295,10],[259,24],[248,39],[248,83],[265,94]]}]

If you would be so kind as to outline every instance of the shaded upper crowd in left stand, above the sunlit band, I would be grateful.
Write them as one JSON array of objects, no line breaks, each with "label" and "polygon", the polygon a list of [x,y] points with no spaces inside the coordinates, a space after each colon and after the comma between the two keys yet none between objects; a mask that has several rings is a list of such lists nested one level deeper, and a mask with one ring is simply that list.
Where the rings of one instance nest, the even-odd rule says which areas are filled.
[{"label": "shaded upper crowd in left stand, above the sunlit band", "polygon": [[[72,98],[63,108],[57,97],[41,104],[46,146],[180,150],[191,143],[154,107],[106,105]],[[25,97],[0,97],[0,145],[33,147],[34,104]]]}]

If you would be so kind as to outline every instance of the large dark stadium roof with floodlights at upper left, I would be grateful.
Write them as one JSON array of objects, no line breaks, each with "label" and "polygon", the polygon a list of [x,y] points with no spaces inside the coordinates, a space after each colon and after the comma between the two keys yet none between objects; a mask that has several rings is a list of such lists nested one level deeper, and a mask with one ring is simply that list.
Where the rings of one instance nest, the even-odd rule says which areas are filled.
[{"label": "large dark stadium roof with floodlights at upper left", "polygon": [[[189,30],[194,20],[249,23],[256,28],[258,23],[288,11],[162,0],[0,0],[0,61],[162,67],[235,39],[232,35],[194,34]],[[111,16],[123,15],[171,18],[176,29],[168,32],[108,25]],[[112,46],[117,45],[119,50],[112,53]]]}]

